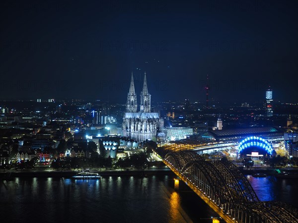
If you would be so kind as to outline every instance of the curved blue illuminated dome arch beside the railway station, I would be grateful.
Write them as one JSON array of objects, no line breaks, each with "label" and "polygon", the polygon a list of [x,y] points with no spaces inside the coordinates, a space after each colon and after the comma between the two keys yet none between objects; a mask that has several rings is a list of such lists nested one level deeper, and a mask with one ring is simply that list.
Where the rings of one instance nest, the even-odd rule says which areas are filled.
[{"label": "curved blue illuminated dome arch beside the railway station", "polygon": [[272,146],[263,138],[257,136],[251,136],[243,139],[238,145],[238,153],[243,152],[243,150],[249,147],[257,147],[265,150],[269,155],[272,155]]}]

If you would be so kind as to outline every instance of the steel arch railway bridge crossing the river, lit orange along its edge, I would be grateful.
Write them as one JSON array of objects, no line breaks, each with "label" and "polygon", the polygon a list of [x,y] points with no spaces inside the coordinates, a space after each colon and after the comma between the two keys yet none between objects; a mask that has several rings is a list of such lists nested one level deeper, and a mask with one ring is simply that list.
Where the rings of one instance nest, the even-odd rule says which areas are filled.
[{"label": "steel arch railway bridge crossing the river, lit orange along its edge", "polygon": [[228,162],[206,161],[194,151],[167,153],[164,163],[226,222],[298,223],[298,211],[282,202],[261,202],[246,177]]}]

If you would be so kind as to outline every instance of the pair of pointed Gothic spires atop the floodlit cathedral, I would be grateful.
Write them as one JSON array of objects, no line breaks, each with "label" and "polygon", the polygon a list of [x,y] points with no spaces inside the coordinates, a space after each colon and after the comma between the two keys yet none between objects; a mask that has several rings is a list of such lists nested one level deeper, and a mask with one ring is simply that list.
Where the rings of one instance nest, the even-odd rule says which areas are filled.
[{"label": "pair of pointed Gothic spires atop the floodlit cathedral", "polygon": [[[131,84],[127,96],[126,112],[137,112],[137,95],[135,92],[134,76],[132,72]],[[146,72],[144,76],[143,91],[141,92],[141,112],[150,112],[151,110],[151,95],[148,92]]]}]

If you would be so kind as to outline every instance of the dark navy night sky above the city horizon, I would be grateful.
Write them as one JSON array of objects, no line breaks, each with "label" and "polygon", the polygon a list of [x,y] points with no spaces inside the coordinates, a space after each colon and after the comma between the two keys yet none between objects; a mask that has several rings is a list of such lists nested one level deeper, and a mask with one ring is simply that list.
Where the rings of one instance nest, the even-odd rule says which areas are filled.
[{"label": "dark navy night sky above the city horizon", "polygon": [[[0,1],[0,100],[298,103],[298,1]],[[139,97],[138,97],[139,100]]]}]

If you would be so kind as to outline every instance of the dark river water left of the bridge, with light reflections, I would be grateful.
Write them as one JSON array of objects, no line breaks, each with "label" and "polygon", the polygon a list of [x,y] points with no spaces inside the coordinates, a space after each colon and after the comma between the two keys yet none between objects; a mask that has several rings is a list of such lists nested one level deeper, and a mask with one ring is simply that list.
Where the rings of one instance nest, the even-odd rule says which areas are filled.
[{"label": "dark river water left of the bridge, with light reflections", "polygon": [[[14,178],[0,183],[1,222],[209,223],[215,213],[173,176]],[[183,187],[182,187],[183,188]]]}]

